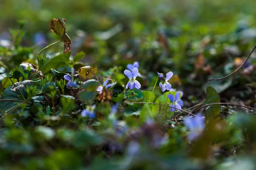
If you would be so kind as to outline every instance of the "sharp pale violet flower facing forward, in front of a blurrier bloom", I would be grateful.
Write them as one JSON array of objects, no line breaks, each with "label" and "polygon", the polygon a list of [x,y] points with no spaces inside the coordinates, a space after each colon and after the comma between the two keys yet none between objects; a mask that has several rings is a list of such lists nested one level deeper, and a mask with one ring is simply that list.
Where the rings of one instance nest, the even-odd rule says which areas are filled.
[{"label": "sharp pale violet flower facing forward, in front of a blurrier bloom", "polygon": [[138,73],[139,73],[139,71],[138,71],[138,68],[136,68],[136,67],[133,68],[132,71],[129,71],[129,70],[124,71],[125,76],[127,76],[130,79],[130,81],[126,85],[126,89],[128,89],[128,88],[130,88],[130,89],[133,89],[133,88],[139,89],[141,87],[140,82],[138,82],[136,80],[136,77],[137,77]]}]

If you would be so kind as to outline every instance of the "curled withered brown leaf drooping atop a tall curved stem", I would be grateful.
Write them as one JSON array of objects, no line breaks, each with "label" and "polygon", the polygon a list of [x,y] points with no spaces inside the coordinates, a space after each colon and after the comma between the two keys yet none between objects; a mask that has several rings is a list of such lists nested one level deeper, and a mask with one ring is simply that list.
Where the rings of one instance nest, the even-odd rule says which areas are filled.
[{"label": "curled withered brown leaf drooping atop a tall curved stem", "polygon": [[70,51],[71,39],[66,33],[66,19],[51,19],[50,30],[61,37],[61,41],[64,42],[64,53],[67,54]]}]

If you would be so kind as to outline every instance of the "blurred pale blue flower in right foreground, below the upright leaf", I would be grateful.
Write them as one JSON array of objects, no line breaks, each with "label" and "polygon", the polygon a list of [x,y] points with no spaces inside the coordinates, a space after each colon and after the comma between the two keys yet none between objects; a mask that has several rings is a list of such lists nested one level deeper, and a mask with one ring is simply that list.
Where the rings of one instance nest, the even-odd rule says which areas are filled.
[{"label": "blurred pale blue flower in right foreground, below the upright leaf", "polygon": [[190,129],[188,137],[189,141],[197,139],[204,131],[205,125],[203,118],[204,116],[202,116],[201,114],[197,114],[197,116],[193,119],[190,119],[188,117],[184,119],[184,124]]}]

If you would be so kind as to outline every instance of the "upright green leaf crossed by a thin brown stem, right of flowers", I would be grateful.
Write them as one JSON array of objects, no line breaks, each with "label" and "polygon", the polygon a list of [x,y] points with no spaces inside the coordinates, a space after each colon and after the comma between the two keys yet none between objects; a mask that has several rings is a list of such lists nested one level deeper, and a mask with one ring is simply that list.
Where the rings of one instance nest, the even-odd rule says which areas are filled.
[{"label": "upright green leaf crossed by a thin brown stem, right of flowers", "polygon": [[[204,104],[210,104],[210,103],[219,103],[221,102],[221,99],[217,93],[217,91],[212,88],[211,86],[208,86],[206,89],[206,99],[204,101]],[[217,116],[221,112],[221,105],[211,105],[206,110],[206,118],[211,119]]]}]

